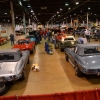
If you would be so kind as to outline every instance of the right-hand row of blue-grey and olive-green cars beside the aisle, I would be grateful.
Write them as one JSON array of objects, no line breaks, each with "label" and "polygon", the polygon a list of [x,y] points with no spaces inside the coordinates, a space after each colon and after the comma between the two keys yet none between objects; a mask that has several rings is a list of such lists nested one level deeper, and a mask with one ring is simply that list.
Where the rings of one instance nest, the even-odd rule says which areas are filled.
[{"label": "right-hand row of blue-grey and olive-green cars beside the aisle", "polygon": [[62,37],[56,42],[60,51],[64,50],[65,59],[70,62],[78,77],[100,75],[100,44],[79,44],[73,36]]}]

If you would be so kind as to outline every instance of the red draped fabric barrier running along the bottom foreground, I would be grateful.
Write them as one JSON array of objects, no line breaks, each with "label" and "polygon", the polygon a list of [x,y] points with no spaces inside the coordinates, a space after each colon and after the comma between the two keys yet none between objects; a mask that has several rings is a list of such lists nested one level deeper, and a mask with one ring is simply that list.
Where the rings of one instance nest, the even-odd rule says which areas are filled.
[{"label": "red draped fabric barrier running along the bottom foreground", "polygon": [[100,89],[43,95],[2,96],[0,100],[100,100]]}]

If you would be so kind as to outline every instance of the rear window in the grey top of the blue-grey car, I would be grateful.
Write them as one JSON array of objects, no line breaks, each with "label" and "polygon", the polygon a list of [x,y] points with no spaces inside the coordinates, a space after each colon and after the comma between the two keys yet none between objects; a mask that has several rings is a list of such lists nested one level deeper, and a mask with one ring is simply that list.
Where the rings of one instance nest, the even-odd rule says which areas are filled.
[{"label": "rear window in the grey top of the blue-grey car", "polygon": [[100,47],[84,48],[84,54],[100,54]]}]

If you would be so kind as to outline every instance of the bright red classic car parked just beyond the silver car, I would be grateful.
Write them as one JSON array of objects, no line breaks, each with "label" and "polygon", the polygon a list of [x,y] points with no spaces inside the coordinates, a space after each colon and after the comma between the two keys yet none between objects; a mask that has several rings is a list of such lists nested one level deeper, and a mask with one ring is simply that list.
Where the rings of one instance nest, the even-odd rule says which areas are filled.
[{"label": "bright red classic car parked just beyond the silver car", "polygon": [[21,51],[29,50],[31,54],[35,51],[35,42],[29,39],[19,39],[12,48],[19,48]]}]

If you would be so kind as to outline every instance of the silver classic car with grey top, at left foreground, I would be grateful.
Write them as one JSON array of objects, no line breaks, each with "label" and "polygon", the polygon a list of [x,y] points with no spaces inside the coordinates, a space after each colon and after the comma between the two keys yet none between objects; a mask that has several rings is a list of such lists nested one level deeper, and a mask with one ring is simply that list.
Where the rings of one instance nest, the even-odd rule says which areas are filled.
[{"label": "silver classic car with grey top, at left foreground", "polygon": [[8,89],[9,82],[25,79],[29,53],[20,49],[0,50],[0,95]]}]

